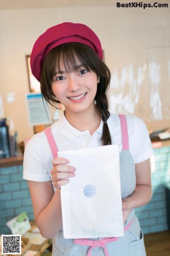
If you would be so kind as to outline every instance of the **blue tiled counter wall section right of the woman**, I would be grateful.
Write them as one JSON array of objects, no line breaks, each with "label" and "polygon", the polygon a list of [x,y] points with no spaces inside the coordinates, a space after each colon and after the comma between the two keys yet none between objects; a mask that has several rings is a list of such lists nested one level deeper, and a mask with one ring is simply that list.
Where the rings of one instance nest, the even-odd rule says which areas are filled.
[{"label": "blue tiled counter wall section right of the woman", "polygon": [[136,209],[136,214],[145,234],[168,229],[165,185],[170,184],[170,147],[154,149],[151,167],[152,199],[144,207]]}]

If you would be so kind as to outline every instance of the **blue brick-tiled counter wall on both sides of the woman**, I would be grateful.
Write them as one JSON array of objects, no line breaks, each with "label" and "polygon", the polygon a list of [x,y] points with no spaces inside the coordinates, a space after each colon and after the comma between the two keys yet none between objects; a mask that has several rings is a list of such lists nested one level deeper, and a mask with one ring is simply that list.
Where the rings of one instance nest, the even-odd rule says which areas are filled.
[{"label": "blue brick-tiled counter wall on both sides of the woman", "polygon": [[[150,203],[136,209],[145,234],[167,230],[165,184],[170,183],[170,147],[154,149],[152,163],[153,196]],[[23,166],[0,168],[0,234],[10,234],[5,223],[19,213],[27,212],[33,219],[33,209],[27,181],[22,178]]]}]

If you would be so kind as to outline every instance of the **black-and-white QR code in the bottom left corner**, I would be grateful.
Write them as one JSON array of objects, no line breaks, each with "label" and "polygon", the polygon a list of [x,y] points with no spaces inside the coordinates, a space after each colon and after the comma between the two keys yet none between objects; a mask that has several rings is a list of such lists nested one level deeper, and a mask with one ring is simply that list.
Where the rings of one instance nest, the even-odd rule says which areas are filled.
[{"label": "black-and-white QR code in the bottom left corner", "polygon": [[2,235],[2,254],[21,254],[21,236]]}]

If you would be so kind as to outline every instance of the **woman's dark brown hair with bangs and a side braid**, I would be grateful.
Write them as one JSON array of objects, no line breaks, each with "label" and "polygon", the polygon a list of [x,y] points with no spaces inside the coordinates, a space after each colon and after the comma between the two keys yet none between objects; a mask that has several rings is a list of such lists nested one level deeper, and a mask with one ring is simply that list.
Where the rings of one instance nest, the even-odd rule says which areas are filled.
[{"label": "woman's dark brown hair with bangs and a side braid", "polygon": [[42,64],[40,81],[42,96],[52,106],[55,106],[55,102],[59,103],[52,91],[52,81],[55,75],[56,65],[59,67],[61,58],[67,72],[78,69],[78,65],[76,64],[78,60],[79,63],[84,65],[84,68],[95,72],[97,77],[100,77],[100,82],[97,84],[95,100],[97,109],[101,114],[101,119],[104,122],[101,142],[103,145],[112,144],[107,125],[110,113],[108,111],[106,92],[109,89],[111,79],[111,73],[107,65],[103,63],[92,48],[82,43],[66,43],[53,48],[46,55]]}]

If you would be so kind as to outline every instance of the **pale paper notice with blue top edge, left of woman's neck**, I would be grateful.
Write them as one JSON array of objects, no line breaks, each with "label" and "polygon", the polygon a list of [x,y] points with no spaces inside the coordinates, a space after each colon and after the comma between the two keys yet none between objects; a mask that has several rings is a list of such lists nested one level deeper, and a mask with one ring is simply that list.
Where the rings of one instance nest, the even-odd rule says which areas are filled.
[{"label": "pale paper notice with blue top edge, left of woman's neck", "polygon": [[41,93],[27,94],[27,109],[30,125],[46,125],[50,123],[50,113]]}]

